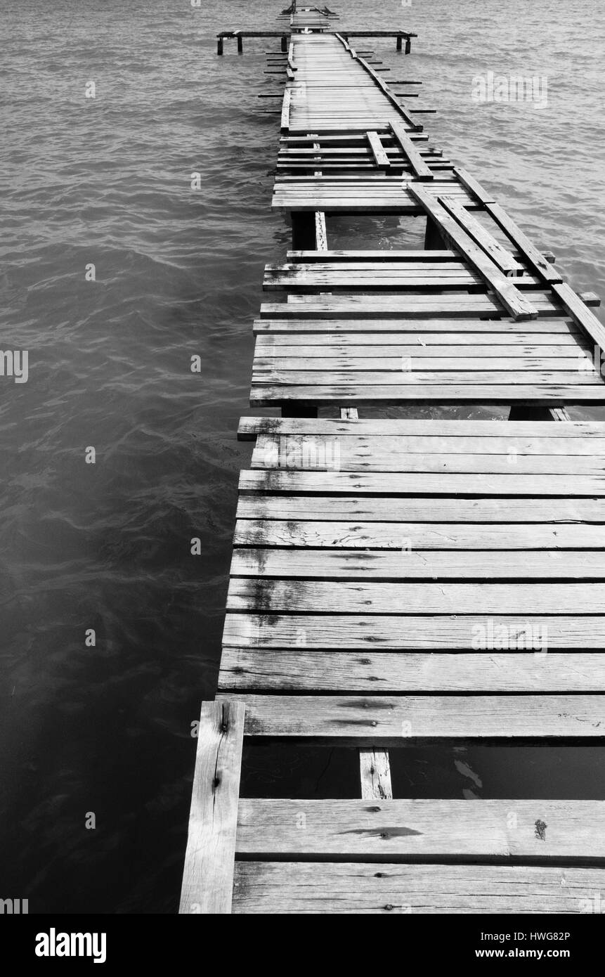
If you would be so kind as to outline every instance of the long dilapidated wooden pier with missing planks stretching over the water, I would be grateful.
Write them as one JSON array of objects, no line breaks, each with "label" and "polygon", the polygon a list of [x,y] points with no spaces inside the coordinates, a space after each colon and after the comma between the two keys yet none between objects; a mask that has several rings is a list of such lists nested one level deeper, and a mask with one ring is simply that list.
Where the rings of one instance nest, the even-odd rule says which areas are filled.
[{"label": "long dilapidated wooden pier with missing planks stretching over the water", "polygon": [[[605,802],[398,799],[389,749],[604,743],[605,424],[565,409],[605,404],[598,300],[331,15],[284,12],[292,249],[265,272],[250,395],[281,416],[239,425],[181,912],[581,913]],[[425,247],[331,250],[326,217],[351,213],[420,218]],[[511,419],[375,416],[411,404]],[[241,797],[244,740],[356,747],[360,796]]]}]

